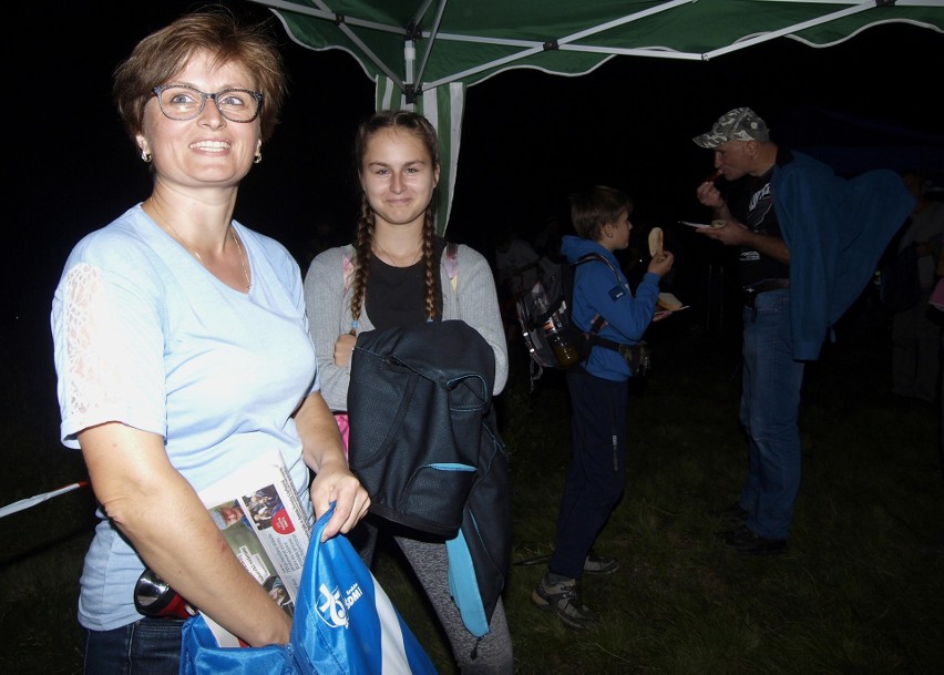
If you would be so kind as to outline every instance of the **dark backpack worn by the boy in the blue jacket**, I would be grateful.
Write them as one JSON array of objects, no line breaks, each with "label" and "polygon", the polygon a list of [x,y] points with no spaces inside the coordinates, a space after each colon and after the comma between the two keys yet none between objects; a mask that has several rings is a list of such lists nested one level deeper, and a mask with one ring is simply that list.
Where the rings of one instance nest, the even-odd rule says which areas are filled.
[{"label": "dark backpack worn by the boy in the blue jacket", "polygon": [[[544,279],[526,288],[515,298],[517,318],[521,324],[524,345],[531,357],[531,389],[544,374],[545,368],[570,369],[583,364],[594,347],[604,347],[614,351],[627,351],[629,346],[599,337],[599,330],[606,319],[597,315],[587,333],[581,330],[571,319],[574,298],[574,275],[578,265],[589,262],[605,263],[619,282],[619,270],[613,263],[598,253],[588,253],[573,263],[564,262]],[[557,352],[555,352],[555,342]],[[570,358],[558,357],[561,345],[573,350]],[[640,342],[644,345],[644,342]],[[567,347],[564,347],[567,349]],[[646,368],[648,359],[646,360]],[[634,367],[634,372],[644,375],[645,368]]]}]

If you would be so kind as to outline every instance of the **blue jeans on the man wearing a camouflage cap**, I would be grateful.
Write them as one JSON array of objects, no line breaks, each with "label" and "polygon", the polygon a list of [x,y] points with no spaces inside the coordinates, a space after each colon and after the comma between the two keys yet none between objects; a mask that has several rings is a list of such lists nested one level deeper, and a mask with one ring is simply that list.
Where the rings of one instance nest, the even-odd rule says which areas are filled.
[{"label": "blue jeans on the man wearing a camouflage cap", "polygon": [[761,293],[743,311],[740,421],[750,469],[740,504],[747,526],[765,539],[787,539],[800,488],[800,388],[803,362],[793,360],[790,290]]}]

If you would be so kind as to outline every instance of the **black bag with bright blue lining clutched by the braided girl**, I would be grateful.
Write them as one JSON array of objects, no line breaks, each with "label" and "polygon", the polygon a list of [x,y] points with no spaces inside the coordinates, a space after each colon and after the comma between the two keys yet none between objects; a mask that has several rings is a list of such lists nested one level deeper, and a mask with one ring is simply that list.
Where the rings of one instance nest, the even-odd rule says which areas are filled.
[{"label": "black bag with bright blue lining clutched by the braided girl", "polygon": [[511,558],[494,379],[485,338],[445,320],[358,335],[348,387],[348,460],[371,512],[445,538],[450,590],[479,637],[489,632]]}]

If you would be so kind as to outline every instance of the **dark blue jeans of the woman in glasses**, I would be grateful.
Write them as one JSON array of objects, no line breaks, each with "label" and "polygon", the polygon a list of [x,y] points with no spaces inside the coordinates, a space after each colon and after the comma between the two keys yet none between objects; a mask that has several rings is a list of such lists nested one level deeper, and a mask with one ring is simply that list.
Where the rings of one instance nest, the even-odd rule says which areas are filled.
[{"label": "dark blue jeans of the woman in glasses", "polygon": [[177,675],[177,618],[142,618],[113,631],[85,631],[85,675]]}]

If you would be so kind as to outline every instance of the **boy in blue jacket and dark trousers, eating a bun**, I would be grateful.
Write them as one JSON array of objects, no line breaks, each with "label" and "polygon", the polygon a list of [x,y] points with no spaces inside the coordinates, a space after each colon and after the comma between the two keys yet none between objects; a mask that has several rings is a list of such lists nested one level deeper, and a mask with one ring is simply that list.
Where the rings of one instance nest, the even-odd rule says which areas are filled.
[{"label": "boy in blue jacket and dark trousers, eating a bun", "polygon": [[[571,218],[579,236],[565,235],[561,253],[571,263],[596,253],[619,269],[614,252],[629,246],[633,202],[625,193],[595,186],[571,198]],[[584,331],[597,316],[606,320],[599,337],[633,345],[653,320],[659,298],[659,279],[671,269],[674,257],[664,252],[648,265],[634,297],[622,272],[609,265],[586,263],[574,277],[573,319]],[[547,571],[532,593],[532,602],[554,612],[571,628],[587,628],[601,621],[579,595],[586,574],[612,574],[613,558],[597,555],[593,545],[619,502],[626,479],[626,419],[632,371],[612,349],[594,348],[587,360],[566,371],[571,396],[572,458],[561,508],[557,536]]]}]

